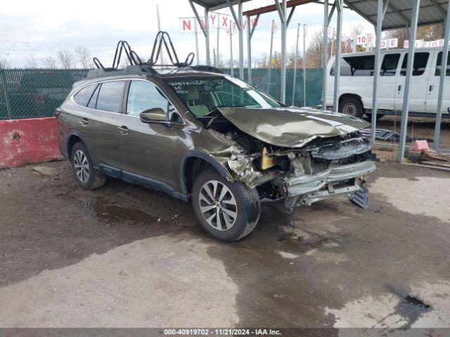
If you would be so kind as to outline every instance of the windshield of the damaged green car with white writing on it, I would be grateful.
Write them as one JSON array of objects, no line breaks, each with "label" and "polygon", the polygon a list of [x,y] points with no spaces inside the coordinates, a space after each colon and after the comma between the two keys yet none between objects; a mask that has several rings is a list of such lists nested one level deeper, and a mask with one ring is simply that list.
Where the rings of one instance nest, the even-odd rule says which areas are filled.
[{"label": "windshield of the damaged green car with white writing on it", "polygon": [[167,84],[197,117],[218,107],[267,109],[281,106],[266,93],[233,77],[167,79]]}]

